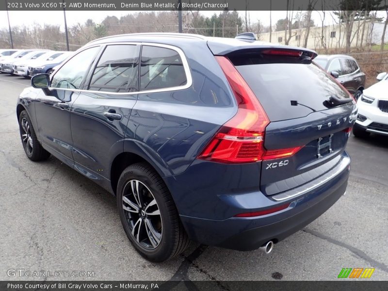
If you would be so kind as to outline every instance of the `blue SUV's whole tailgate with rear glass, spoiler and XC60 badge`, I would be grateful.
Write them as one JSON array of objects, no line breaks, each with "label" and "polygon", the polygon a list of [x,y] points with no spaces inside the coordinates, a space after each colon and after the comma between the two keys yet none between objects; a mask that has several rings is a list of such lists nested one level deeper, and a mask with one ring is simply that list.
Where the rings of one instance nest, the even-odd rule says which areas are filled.
[{"label": "blue SUV's whole tailgate with rear glass, spoiler and XC60 badge", "polygon": [[[267,150],[301,147],[291,156],[258,164],[260,189],[264,194],[300,187],[339,165],[356,118],[356,104],[331,76],[312,64],[314,53],[260,46],[229,50],[226,56],[270,119],[264,147]],[[329,102],[333,97],[338,103]]]}]

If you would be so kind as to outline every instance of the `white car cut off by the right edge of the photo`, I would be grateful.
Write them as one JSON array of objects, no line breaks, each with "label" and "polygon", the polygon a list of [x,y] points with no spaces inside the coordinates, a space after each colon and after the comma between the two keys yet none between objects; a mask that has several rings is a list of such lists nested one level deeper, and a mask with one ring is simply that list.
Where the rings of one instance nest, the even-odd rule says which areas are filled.
[{"label": "white car cut off by the right edge of the photo", "polygon": [[358,98],[358,116],[353,127],[356,137],[367,137],[371,132],[388,136],[388,73],[380,73],[376,79],[379,82]]}]

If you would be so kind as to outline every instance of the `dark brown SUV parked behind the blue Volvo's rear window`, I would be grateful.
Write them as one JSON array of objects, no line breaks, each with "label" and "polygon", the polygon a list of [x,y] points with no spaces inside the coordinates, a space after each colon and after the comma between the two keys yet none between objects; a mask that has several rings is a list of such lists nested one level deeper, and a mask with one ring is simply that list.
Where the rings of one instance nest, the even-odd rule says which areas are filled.
[{"label": "dark brown SUV parked behind the blue Volvo's rear window", "polygon": [[318,55],[314,62],[336,78],[355,99],[365,88],[365,74],[355,58],[348,55]]}]

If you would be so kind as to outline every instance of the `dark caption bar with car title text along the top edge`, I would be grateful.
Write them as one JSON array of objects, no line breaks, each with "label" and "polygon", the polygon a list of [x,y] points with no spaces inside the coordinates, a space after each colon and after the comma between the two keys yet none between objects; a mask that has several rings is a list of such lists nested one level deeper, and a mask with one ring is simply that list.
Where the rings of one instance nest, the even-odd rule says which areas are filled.
[{"label": "dark caption bar with car title text along the top edge", "polygon": [[10,11],[306,11],[384,10],[385,7],[384,0],[0,0],[0,10]]}]

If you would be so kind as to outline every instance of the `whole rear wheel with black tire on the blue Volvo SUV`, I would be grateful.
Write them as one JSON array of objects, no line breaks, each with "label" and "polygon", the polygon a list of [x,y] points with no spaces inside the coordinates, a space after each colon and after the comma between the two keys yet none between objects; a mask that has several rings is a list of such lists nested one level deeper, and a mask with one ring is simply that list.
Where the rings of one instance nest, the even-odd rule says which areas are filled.
[{"label": "whole rear wheel with black tire on the blue Volvo SUV", "polygon": [[[135,193],[140,195],[136,198]],[[171,194],[149,164],[135,163],[123,171],[118,180],[116,198],[121,223],[129,241],[146,259],[162,262],[178,256],[189,246],[190,240],[180,222]],[[152,205],[154,200],[156,205]],[[151,207],[154,207],[153,211],[147,212],[147,208]],[[158,210],[160,215],[147,214],[157,213]]]}]

